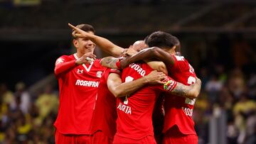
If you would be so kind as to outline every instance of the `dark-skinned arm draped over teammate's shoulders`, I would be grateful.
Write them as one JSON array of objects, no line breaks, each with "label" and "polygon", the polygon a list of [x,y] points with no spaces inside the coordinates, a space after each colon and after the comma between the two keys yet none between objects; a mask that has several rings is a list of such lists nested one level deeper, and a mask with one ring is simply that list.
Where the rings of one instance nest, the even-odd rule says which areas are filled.
[{"label": "dark-skinned arm draped over teammate's shoulders", "polygon": [[160,60],[164,62],[166,65],[174,65],[174,57],[172,57],[169,52],[166,52],[164,50],[161,50],[161,48],[153,47],[153,48],[146,48],[144,50],[141,50],[135,55],[132,55],[129,59],[124,59],[120,63],[120,67],[127,67],[132,62],[136,62],[138,60],[151,60],[151,58],[154,57],[156,60]]}]

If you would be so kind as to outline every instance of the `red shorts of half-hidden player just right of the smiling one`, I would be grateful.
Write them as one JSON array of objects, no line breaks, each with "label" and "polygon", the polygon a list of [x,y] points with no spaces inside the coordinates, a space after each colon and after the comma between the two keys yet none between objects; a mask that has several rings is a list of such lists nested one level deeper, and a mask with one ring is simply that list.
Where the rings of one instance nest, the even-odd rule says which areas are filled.
[{"label": "red shorts of half-hidden player just right of the smiling one", "polygon": [[107,137],[105,133],[102,133],[102,131],[97,131],[92,135],[92,144],[112,144],[113,139]]}]

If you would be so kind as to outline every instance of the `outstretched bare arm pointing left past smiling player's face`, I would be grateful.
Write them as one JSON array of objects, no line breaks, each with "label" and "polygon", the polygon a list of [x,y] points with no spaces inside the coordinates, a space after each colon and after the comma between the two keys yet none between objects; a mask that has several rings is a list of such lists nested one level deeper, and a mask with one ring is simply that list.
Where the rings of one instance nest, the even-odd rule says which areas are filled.
[{"label": "outstretched bare arm pointing left past smiling player's face", "polygon": [[98,45],[102,50],[109,53],[110,55],[113,55],[114,57],[118,57],[121,55],[121,53],[124,51],[124,48],[119,47],[118,45],[115,45],[110,40],[107,40],[106,38],[102,38],[97,35],[93,35],[92,33],[87,33],[85,31],[82,31],[80,28],[76,28],[75,26],[68,23],[68,26],[75,29],[77,33],[75,33],[75,36],[78,38],[87,38],[92,40],[93,43]]}]

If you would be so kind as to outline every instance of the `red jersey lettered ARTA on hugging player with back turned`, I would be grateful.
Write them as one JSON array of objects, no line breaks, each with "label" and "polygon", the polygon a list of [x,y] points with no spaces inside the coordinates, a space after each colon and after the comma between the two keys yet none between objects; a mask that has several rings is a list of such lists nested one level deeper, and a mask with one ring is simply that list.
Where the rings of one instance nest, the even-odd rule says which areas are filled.
[{"label": "red jersey lettered ARTA on hugging player with back turned", "polygon": [[[133,63],[122,71],[122,82],[130,82],[152,71],[146,63]],[[171,79],[171,78],[170,78]],[[165,89],[171,91],[176,87],[172,79]],[[154,136],[152,113],[160,92],[166,91],[164,85],[147,85],[129,97],[117,99],[117,133],[124,138],[139,140],[148,135]]]}]

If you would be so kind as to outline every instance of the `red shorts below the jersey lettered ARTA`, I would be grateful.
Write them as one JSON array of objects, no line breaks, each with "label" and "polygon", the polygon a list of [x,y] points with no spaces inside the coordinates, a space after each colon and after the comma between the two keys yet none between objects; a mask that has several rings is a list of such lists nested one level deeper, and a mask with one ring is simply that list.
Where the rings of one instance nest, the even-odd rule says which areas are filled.
[{"label": "red shorts below the jersey lettered ARTA", "polygon": [[154,139],[154,136],[146,136],[145,138],[142,138],[140,140],[134,140],[131,138],[124,138],[122,136],[114,135],[114,141],[113,144],[156,144],[156,140]]}]

